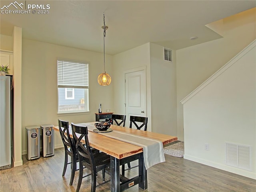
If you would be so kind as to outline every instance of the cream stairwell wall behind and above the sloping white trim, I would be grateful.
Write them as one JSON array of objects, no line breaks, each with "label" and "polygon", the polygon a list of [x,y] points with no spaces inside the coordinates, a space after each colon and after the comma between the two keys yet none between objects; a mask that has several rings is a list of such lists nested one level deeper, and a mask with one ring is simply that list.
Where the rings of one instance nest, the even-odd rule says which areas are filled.
[{"label": "cream stairwell wall behind and above the sloping white trim", "polygon": [[223,38],[176,51],[179,140],[183,140],[184,135],[180,101],[256,39],[255,12],[249,19],[248,16],[230,17],[223,21],[223,27]]}]

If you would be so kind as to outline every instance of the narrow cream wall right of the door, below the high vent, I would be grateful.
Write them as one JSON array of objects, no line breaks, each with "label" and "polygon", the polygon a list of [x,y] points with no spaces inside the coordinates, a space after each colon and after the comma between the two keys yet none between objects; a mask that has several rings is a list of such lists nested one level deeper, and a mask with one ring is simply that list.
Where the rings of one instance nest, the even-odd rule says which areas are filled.
[{"label": "narrow cream wall right of the door, below the high vent", "polygon": [[176,51],[164,61],[164,47],[150,43],[152,131],[177,135]]}]

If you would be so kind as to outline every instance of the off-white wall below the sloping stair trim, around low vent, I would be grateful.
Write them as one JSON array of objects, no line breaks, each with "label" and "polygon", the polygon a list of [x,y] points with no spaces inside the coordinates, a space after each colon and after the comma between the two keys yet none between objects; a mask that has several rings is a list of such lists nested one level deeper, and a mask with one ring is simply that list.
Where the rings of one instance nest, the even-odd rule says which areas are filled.
[{"label": "off-white wall below the sloping stair trim, around low vent", "polygon": [[[247,51],[184,99],[184,159],[256,179],[256,41]],[[225,142],[252,146],[252,171],[226,165]]]}]

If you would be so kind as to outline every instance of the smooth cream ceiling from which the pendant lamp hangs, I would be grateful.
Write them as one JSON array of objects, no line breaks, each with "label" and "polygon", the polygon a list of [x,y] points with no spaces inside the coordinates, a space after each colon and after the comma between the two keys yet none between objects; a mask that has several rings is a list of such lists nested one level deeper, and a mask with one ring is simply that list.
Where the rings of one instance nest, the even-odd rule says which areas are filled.
[{"label": "smooth cream ceiling from which the pendant lamp hangs", "polygon": [[[14,1],[0,1],[0,8]],[[107,54],[132,49],[148,42],[182,49],[222,36],[205,25],[256,7],[254,0],[150,0],[17,1],[50,5],[48,14],[0,14],[0,33],[12,35],[22,27],[22,37],[57,45],[103,52],[103,13]],[[19,8],[20,9],[20,8]],[[14,6],[2,10],[16,10]],[[43,9],[41,9],[43,11]],[[31,10],[32,11],[32,10]],[[37,12],[37,11],[36,11]],[[190,37],[198,37],[191,40]]]}]

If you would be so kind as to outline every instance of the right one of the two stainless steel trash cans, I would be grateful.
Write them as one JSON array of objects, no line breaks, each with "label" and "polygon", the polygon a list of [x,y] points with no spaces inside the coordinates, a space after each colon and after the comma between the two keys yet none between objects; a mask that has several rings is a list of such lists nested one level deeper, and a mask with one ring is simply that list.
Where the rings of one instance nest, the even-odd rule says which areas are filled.
[{"label": "right one of the two stainless steel trash cans", "polygon": [[42,156],[54,155],[54,129],[52,124],[40,125],[42,135]]}]

